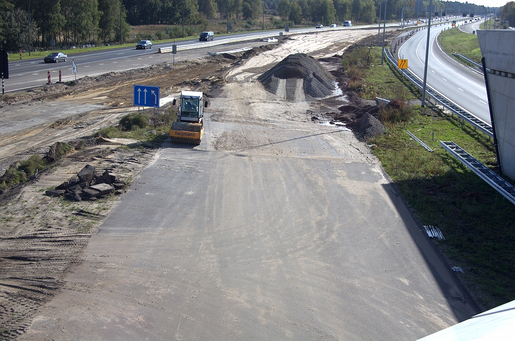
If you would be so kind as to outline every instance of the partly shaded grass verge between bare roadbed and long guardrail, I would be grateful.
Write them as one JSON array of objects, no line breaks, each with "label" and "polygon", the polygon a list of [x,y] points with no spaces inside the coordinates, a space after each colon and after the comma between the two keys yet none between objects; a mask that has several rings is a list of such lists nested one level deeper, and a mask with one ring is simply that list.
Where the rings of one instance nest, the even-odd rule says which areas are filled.
[{"label": "partly shaded grass verge between bare roadbed and long guardrail", "polygon": [[[368,89],[389,88],[382,90],[384,97],[405,87],[394,67],[383,66],[381,72],[374,66],[362,70]],[[361,95],[369,93],[365,90]],[[417,95],[411,93],[411,97]],[[386,133],[370,141],[373,154],[420,223],[442,230],[446,240],[435,243],[450,266],[465,270],[457,276],[479,307],[487,310],[515,299],[515,207],[438,142],[454,141],[496,171],[492,141],[437,108],[414,106],[409,115],[397,117],[401,119],[385,120]],[[425,150],[405,130],[435,151]]]}]

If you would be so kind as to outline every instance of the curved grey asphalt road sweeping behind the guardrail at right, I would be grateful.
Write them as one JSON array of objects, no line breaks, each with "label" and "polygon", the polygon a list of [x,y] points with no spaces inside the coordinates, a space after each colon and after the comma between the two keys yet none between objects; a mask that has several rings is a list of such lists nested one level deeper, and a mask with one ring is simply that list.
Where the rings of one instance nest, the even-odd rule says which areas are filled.
[{"label": "curved grey asphalt road sweeping behind the guardrail at right", "polygon": [[[427,66],[427,84],[457,106],[490,124],[490,112],[482,74],[469,69],[445,54],[436,37],[450,24],[431,27],[430,53]],[[420,80],[424,79],[427,29],[417,32],[398,50],[399,58],[408,60],[408,70]]]}]

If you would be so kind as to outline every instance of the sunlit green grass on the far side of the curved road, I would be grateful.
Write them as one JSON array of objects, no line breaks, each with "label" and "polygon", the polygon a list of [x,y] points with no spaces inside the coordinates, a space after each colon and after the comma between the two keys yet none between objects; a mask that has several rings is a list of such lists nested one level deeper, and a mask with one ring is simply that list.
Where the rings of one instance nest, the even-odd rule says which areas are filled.
[{"label": "sunlit green grass on the far side of the curved road", "polygon": [[[476,63],[481,63],[481,50],[479,49],[479,41],[476,35],[470,35],[459,30],[459,28],[451,28],[440,33],[438,42],[445,52],[455,58],[452,53],[458,53],[467,58],[472,59]],[[455,58],[459,62],[460,59]]]}]

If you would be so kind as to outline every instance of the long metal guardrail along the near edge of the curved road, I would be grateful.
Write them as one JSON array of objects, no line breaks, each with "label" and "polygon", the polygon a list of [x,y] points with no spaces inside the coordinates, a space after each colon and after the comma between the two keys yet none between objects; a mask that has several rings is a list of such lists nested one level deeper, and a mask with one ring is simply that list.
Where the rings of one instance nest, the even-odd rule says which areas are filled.
[{"label": "long metal guardrail along the near edge of the curved road", "polygon": [[[393,58],[393,56],[390,53],[390,49],[385,48],[385,54],[386,59],[390,61],[390,63],[393,64],[394,67],[397,67],[397,60]],[[423,88],[423,82],[417,78],[414,74],[409,72],[407,69],[400,69],[399,70],[406,78],[408,78],[412,83],[415,84],[420,90]],[[472,115],[471,113],[465,111],[464,109],[461,109],[454,103],[452,103],[449,99],[443,97],[439,93],[437,93],[435,90],[433,90],[431,87],[427,86],[426,84],[426,94],[436,100],[441,106],[443,106],[445,109],[448,109],[452,113],[456,114],[459,118],[461,118],[464,121],[467,121],[469,124],[471,124],[474,128],[479,129],[480,131],[483,131],[485,134],[487,134],[489,137],[493,138],[493,132],[492,132],[492,126],[489,125],[486,122],[483,122],[479,120],[476,116]]]}]

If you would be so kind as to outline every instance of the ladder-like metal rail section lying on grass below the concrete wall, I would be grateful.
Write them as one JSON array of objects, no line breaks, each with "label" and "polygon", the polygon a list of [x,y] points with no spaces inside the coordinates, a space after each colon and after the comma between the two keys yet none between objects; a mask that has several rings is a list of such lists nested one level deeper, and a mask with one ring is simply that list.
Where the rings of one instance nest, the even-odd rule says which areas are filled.
[{"label": "ladder-like metal rail section lying on grass below the concrete wall", "polygon": [[485,180],[497,192],[501,193],[506,199],[515,204],[515,186],[495,174],[490,168],[479,162],[472,155],[462,149],[454,142],[440,141],[440,146],[447,150],[452,156],[466,165],[472,172]]}]

